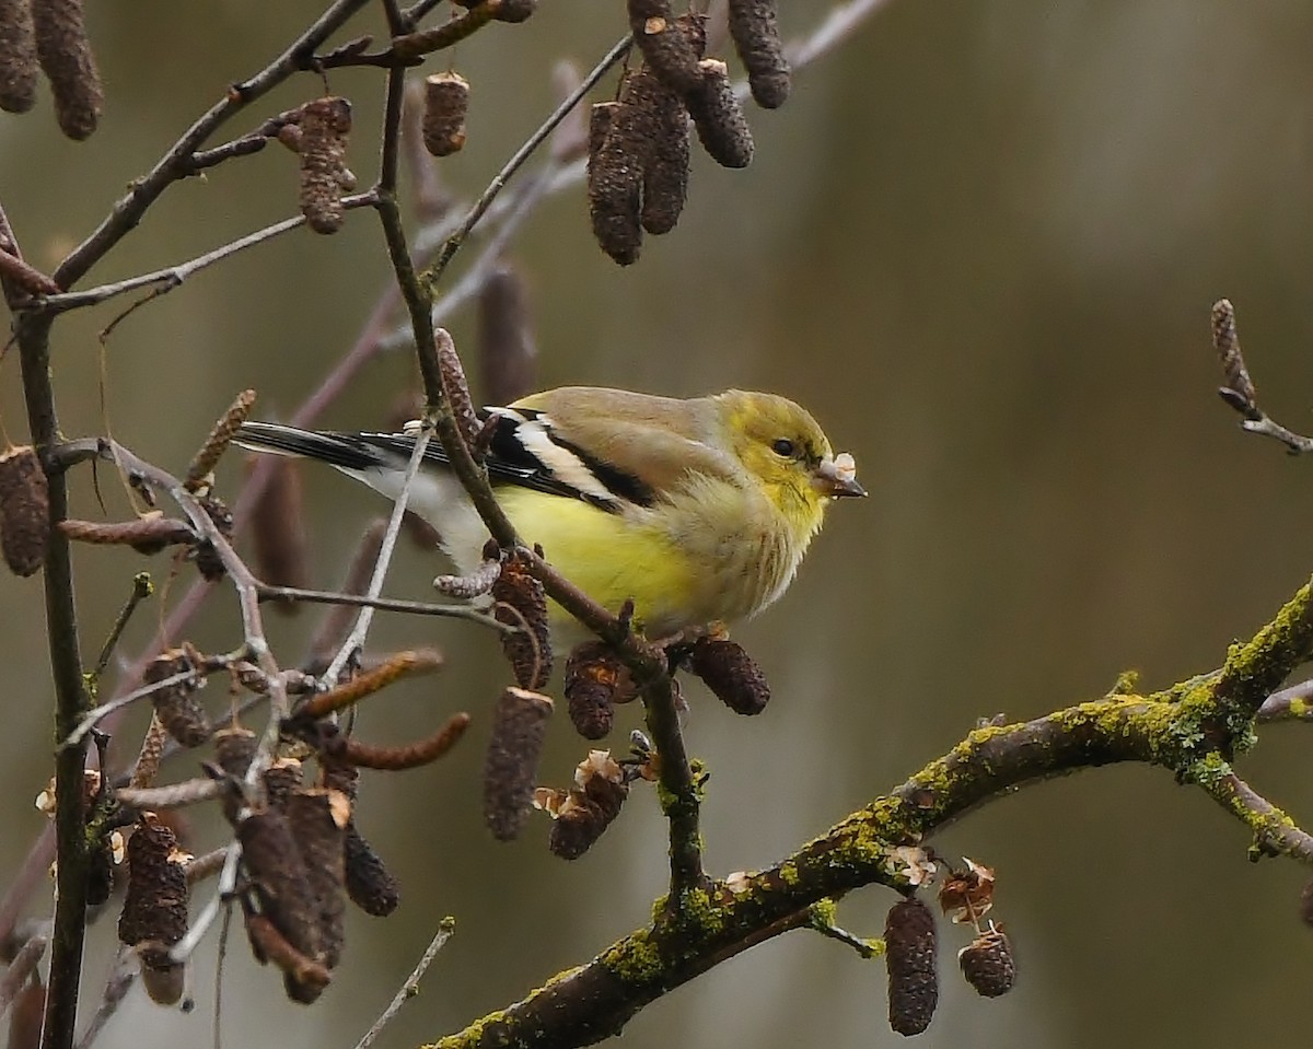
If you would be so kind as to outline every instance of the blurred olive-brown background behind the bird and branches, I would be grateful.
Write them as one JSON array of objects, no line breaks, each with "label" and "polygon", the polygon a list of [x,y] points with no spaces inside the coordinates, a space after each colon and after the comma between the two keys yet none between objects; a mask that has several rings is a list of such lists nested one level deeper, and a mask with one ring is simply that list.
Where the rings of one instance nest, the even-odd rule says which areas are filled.
[{"label": "blurred olive-brown background behind the bird and branches", "polygon": [[[806,8],[811,8],[807,11]],[[56,131],[49,97],[0,119],[0,200],[28,256],[53,267],[232,80],[260,68],[320,5],[139,0],[96,5],[106,84],[85,144]],[[790,5],[789,34],[825,5]],[[377,12],[352,32],[377,32]],[[477,194],[550,110],[554,63],[582,67],[624,28],[621,5],[549,3],[450,54],[473,83],[469,144],[441,164]],[[800,72],[779,112],[751,110],[743,172],[696,158],[689,206],[642,260],[613,265],[592,242],[583,192],[545,201],[508,260],[528,282],[538,383],[614,383],[663,394],[730,385],[785,393],[850,449],[872,492],[836,508],[789,595],[737,637],[773,687],[764,716],[735,717],[689,687],[688,743],[710,765],[704,810],[717,874],[768,865],[901,782],[981,717],[1029,718],[1098,697],[1127,668],[1161,687],[1218,664],[1313,567],[1313,463],[1247,437],[1215,395],[1208,311],[1237,307],[1260,398],[1313,428],[1313,4],[1218,0],[890,0],[832,55]],[[428,71],[448,59],[429,63]],[[613,89],[608,77],[599,95]],[[349,163],[373,175],[381,79],[331,77],[356,104]],[[294,79],[230,125],[319,93]],[[695,151],[696,152],[696,151]],[[277,147],[168,192],[87,285],[198,255],[295,213],[295,164]],[[465,261],[478,251],[471,246]],[[114,435],[183,469],[232,395],[253,386],[286,417],[356,339],[387,282],[377,223],[332,239],[301,230],[205,270],[133,314],[106,349]],[[55,328],[70,435],[102,429],[97,332],[127,302]],[[449,326],[475,344],[475,314]],[[0,410],[24,433],[14,354]],[[473,370],[473,369],[471,369]],[[410,389],[404,348],[381,356],[324,425],[383,423]],[[221,491],[235,495],[239,457]],[[328,469],[305,474],[314,582],[332,587],[385,507]],[[112,516],[125,512],[113,482]],[[85,478],[75,512],[98,509]],[[246,549],[249,549],[248,546]],[[84,650],[98,647],[140,558],[79,551]],[[168,562],[151,563],[156,578]],[[424,597],[440,563],[403,545],[389,592]],[[172,584],[164,603],[190,583]],[[155,605],[161,603],[156,601]],[[39,579],[0,579],[0,881],[41,828],[32,800],[51,771]],[[125,651],[158,628],[140,613]],[[318,614],[269,614],[299,658]],[[238,641],[230,592],[188,637]],[[651,792],[582,860],[546,851],[548,821],[500,846],[482,828],[487,710],[508,672],[483,633],[382,617],[372,649],[436,643],[449,667],[372,701],[361,733],[404,740],[467,709],[469,738],[442,763],[365,784],[358,822],[403,882],[386,920],[352,911],[344,964],[312,1008],[242,943],[225,973],[225,1044],[352,1045],[442,915],[458,928],[385,1036],[407,1046],[458,1029],[646,923],[666,881]],[[222,685],[210,689],[218,709]],[[144,723],[125,723],[121,760]],[[617,746],[637,723],[626,708]],[[1241,771],[1313,821],[1308,729],[1266,727]],[[542,777],[563,785],[586,750],[565,718]],[[167,769],[184,777],[194,759]],[[221,840],[193,817],[196,851]],[[993,803],[935,840],[998,872],[994,916],[1020,975],[978,999],[944,928],[941,1004],[924,1046],[1283,1044],[1301,1000],[1309,931],[1291,863],[1246,859],[1241,826],[1148,768],[1106,768]],[[209,889],[201,894],[204,899]],[[846,899],[843,924],[880,935],[893,895]],[[46,902],[33,901],[41,914]],[[84,993],[100,998],[113,920],[93,930]],[[240,940],[240,935],[236,937]],[[190,1015],[139,991],[98,1045],[210,1038],[215,945],[197,958]],[[792,933],[718,966],[639,1014],[632,1049],[681,1045],[869,1046],[885,1020],[882,962]]]}]

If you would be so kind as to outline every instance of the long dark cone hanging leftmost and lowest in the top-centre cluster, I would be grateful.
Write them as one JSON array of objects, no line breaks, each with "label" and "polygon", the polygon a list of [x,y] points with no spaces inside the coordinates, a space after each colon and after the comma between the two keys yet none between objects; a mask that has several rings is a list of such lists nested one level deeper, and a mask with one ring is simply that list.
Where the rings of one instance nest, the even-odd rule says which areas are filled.
[{"label": "long dark cone hanging leftmost and lowest in the top-centre cluster", "polygon": [[638,261],[643,246],[642,156],[646,148],[622,102],[597,102],[588,118],[588,214],[592,235],[620,265]]}]

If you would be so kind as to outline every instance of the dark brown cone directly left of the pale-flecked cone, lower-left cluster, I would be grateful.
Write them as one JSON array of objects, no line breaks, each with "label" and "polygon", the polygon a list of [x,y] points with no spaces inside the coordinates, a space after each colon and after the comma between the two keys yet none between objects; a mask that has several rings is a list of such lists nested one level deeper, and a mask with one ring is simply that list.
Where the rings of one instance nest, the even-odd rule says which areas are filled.
[{"label": "dark brown cone directly left of the pale-flecked cone, lower-left cluster", "polygon": [[260,912],[301,954],[319,956],[319,915],[310,891],[305,857],[288,817],[274,809],[253,813],[236,827],[242,864]]}]

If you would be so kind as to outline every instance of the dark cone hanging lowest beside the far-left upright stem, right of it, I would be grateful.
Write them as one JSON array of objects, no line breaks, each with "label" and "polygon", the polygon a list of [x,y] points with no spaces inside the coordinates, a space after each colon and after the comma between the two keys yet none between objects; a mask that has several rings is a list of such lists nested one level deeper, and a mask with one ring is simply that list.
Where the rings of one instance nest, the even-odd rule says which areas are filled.
[{"label": "dark cone hanging lowest beside the far-left upright stem, right of it", "polygon": [[[118,939],[137,948],[143,974],[154,970],[181,977],[183,964],[172,961],[168,952],[186,935],[186,856],[179,851],[177,838],[154,815],[143,817],[127,839],[127,891],[118,916]],[[158,981],[156,990],[172,987],[180,998],[177,978]]]}]

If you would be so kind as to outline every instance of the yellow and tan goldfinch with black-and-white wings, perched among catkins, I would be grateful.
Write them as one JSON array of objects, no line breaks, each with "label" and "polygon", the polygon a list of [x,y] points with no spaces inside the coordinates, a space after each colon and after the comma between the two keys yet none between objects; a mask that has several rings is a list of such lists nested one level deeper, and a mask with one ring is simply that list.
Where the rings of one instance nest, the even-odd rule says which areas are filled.
[{"label": "yellow and tan goldfinch with black-and-white wings, perched among catkins", "polygon": [[[604,607],[633,600],[650,638],[760,612],[793,580],[829,503],[867,494],[852,456],[835,456],[815,419],[775,394],[567,386],[486,412],[498,420],[488,478],[521,538]],[[415,446],[414,432],[270,423],[247,423],[236,440],[322,460],[389,498]],[[479,565],[487,529],[436,441],[408,505],[461,572]]]}]

